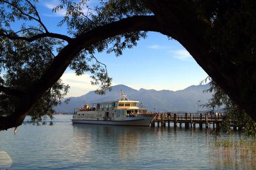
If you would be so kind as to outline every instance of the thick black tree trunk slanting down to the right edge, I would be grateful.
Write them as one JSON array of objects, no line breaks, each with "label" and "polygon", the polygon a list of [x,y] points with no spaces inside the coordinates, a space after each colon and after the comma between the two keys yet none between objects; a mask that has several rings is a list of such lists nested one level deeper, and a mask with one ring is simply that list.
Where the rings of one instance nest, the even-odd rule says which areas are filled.
[{"label": "thick black tree trunk slanting down to the right edge", "polygon": [[[223,64],[222,54],[214,50],[220,46],[212,46],[212,39],[205,37],[205,32],[215,25],[199,17],[193,1],[141,1],[156,16],[162,33],[179,41],[221,89],[256,121],[256,80],[248,76],[248,73],[255,72],[252,69],[253,64],[255,68],[255,62],[243,60],[243,67],[235,66],[232,60],[224,60]],[[237,54],[228,55],[232,59]]]}]

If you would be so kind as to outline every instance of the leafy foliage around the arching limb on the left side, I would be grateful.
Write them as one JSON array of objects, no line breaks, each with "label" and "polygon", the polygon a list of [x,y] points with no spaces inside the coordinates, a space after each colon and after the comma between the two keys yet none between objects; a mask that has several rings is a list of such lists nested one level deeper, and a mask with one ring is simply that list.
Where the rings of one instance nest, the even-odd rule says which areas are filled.
[{"label": "leafy foliage around the arching limb on the left side", "polygon": [[[37,0],[0,1],[0,120],[3,118],[1,116],[4,118],[10,116],[22,108],[22,104],[26,105],[31,102],[21,100],[33,100],[36,95],[40,97],[35,97],[36,101],[32,104],[32,108],[31,105],[28,105],[28,108],[26,106],[22,108],[24,111],[29,110],[26,115],[31,116],[31,122],[34,124],[44,124],[45,117],[52,118],[54,113],[52,107],[61,103],[69,88],[61,80],[54,79],[52,81],[51,76],[49,76],[49,81],[44,79],[47,77],[45,73],[49,67],[52,68],[52,63],[56,59],[65,62],[65,66],[70,63],[70,69],[76,71],[77,75],[90,73],[92,85],[98,87],[96,92],[104,94],[105,90],[111,86],[111,78],[108,75],[107,66],[97,60],[95,53],[114,52],[116,56],[119,56],[122,55],[122,50],[136,46],[136,41],[146,37],[146,32],[126,32],[117,36],[109,36],[94,44],[89,43],[90,45],[84,46],[82,50],[79,48],[78,54],[74,52],[77,55],[71,56],[72,61],[67,62],[65,54],[63,55],[63,49],[69,43],[74,42],[72,40],[78,36],[122,18],[149,15],[150,11],[143,6],[141,1],[137,0],[100,1],[99,6],[93,7],[88,6],[86,0],[77,3],[61,0],[60,5],[53,8],[52,11],[66,11],[65,17],[58,26],[67,25],[68,34],[74,37],[69,38],[66,35],[47,30],[36,10],[36,3],[38,3]],[[20,24],[20,29],[17,31],[18,24]],[[77,45],[79,46],[79,44]],[[60,53],[62,57],[59,57]],[[61,64],[59,65],[54,66],[61,67]],[[56,74],[63,73],[63,68],[55,71]],[[38,87],[38,82],[44,83],[42,80],[54,85],[49,89],[47,89],[49,85],[45,85],[47,90],[44,93],[31,92],[31,89]],[[56,83],[54,83],[55,81]],[[42,86],[44,85],[42,84]],[[29,96],[31,94],[34,96]],[[19,117],[17,118],[19,119]]]}]

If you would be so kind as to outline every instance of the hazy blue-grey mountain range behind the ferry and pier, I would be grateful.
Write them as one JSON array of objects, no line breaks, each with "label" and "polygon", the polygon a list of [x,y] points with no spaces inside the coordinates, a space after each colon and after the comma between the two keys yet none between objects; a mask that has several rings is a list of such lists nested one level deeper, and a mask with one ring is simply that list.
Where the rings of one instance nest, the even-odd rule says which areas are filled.
[{"label": "hazy blue-grey mountain range behind the ferry and pier", "polygon": [[[115,85],[112,90],[106,91],[101,96],[95,94],[94,91],[80,97],[70,97],[68,104],[56,106],[57,113],[72,113],[74,108],[81,108],[84,104],[99,103],[102,101],[116,101],[120,99],[120,92],[124,92],[129,100],[140,101],[143,108],[148,111],[172,111],[172,112],[191,112],[205,111],[200,105],[207,103],[212,97],[212,93],[204,92],[209,89],[209,83],[206,85],[192,85],[184,90],[135,90],[125,85]],[[198,102],[199,101],[199,102]],[[199,107],[198,107],[199,105]]]}]

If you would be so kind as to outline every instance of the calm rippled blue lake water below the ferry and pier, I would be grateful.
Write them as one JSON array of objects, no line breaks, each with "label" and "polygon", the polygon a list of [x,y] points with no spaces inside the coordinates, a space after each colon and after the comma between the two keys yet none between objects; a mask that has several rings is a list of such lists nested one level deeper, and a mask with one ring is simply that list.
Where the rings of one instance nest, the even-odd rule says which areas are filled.
[{"label": "calm rippled blue lake water below the ferry and pier", "polygon": [[0,169],[256,168],[252,158],[220,154],[214,136],[199,129],[72,124],[71,117],[1,131]]}]

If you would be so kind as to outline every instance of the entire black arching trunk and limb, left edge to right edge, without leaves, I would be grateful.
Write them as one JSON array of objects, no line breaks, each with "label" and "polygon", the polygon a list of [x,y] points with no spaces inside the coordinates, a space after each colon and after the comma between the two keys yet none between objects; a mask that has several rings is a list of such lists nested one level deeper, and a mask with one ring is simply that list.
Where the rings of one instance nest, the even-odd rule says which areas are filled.
[{"label": "entire black arching trunk and limb, left edge to right edge, without leaves", "polygon": [[[249,63],[249,69],[248,63],[243,63],[243,67],[236,67],[231,63],[232,61],[225,60],[227,63],[221,64],[221,54],[212,48],[211,38],[205,37],[207,29],[211,29],[214,25],[198,17],[196,10],[193,9],[195,7],[193,1],[142,1],[154,13],[154,16],[125,18],[92,29],[76,38],[68,39],[68,45],[58,53],[40,80],[26,90],[26,96],[22,98],[19,108],[16,108],[8,117],[0,117],[0,130],[20,125],[33,104],[58,81],[72,59],[81,50],[104,39],[132,31],[161,32],[179,41],[205,72],[227,92],[228,96],[256,120],[256,81],[247,75],[252,70],[255,71],[255,69],[250,70],[253,64],[255,66],[255,60]],[[243,80],[239,80],[241,78]],[[244,86],[244,83],[250,86]]]}]

